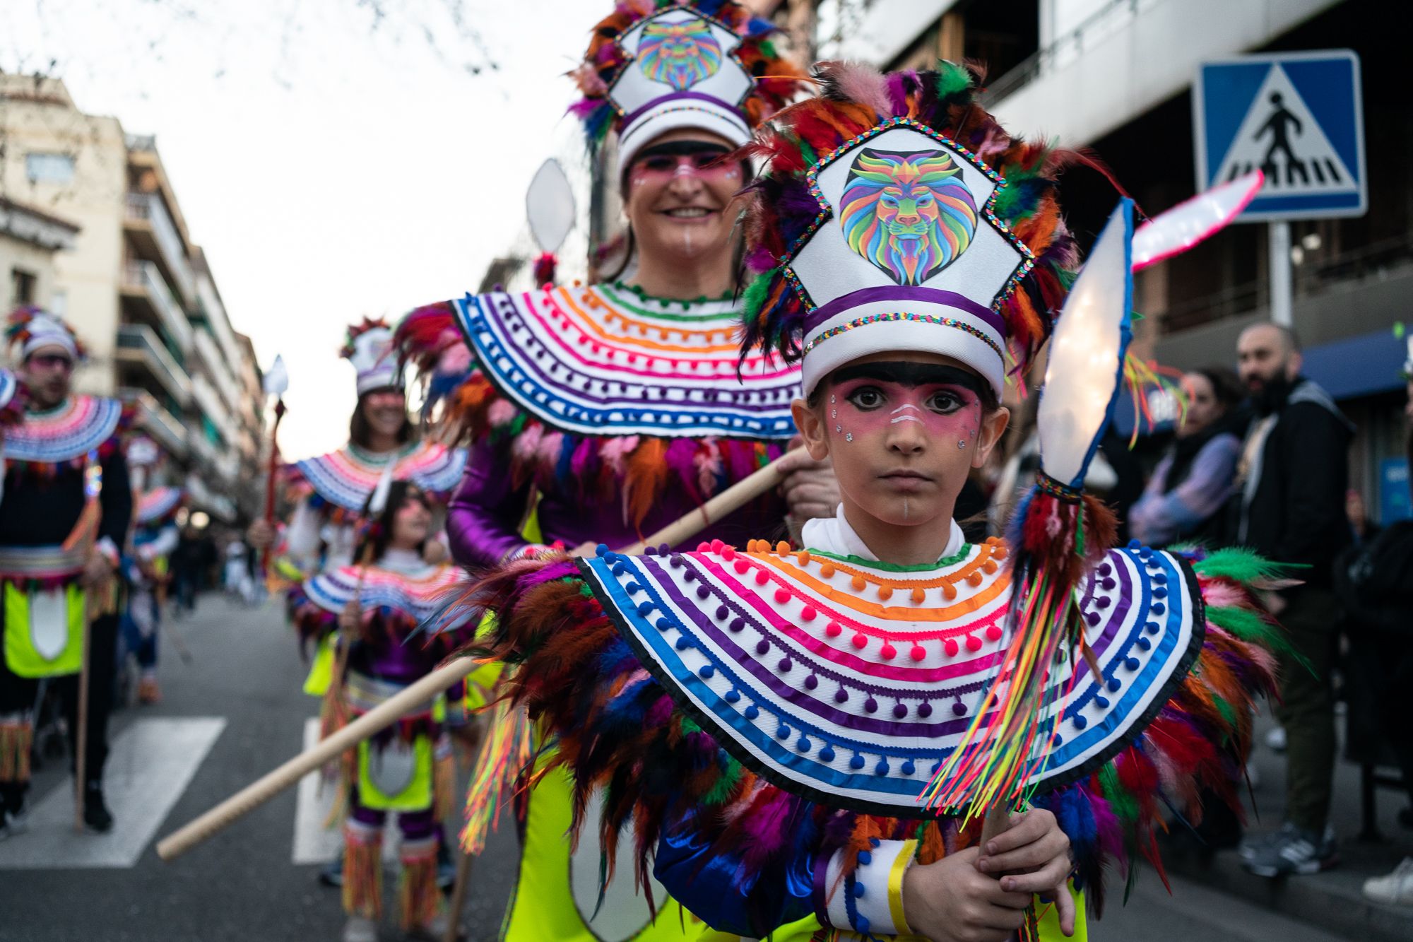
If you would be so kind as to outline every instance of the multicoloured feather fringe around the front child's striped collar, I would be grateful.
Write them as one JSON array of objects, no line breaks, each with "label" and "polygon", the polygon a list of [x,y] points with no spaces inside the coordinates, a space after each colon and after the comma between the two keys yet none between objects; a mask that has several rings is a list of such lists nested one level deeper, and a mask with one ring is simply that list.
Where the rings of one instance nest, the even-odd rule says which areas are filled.
[{"label": "multicoloured feather fringe around the front child's striped collar", "polygon": [[[1253,591],[1270,584],[1276,570],[1234,550],[1191,550],[1186,557],[1205,603],[1202,649],[1187,678],[1112,762],[1081,782],[1033,796],[1070,836],[1075,885],[1096,915],[1106,866],[1132,874],[1130,864],[1142,856],[1160,868],[1160,809],[1170,806],[1197,822],[1200,795],[1210,789],[1241,813],[1236,786],[1251,747],[1253,702],[1276,690],[1272,649],[1284,639]],[[774,871],[783,878],[786,863],[801,853],[848,851],[851,873],[873,837],[917,839],[918,860],[931,863],[981,833],[979,816],[917,822],[863,815],[817,805],[755,775],[680,706],[680,690],[664,689],[643,670],[574,560],[514,563],[461,603],[499,612],[495,631],[468,652],[519,666],[506,680],[512,702],[558,737],[550,765],[574,774],[575,833],[589,795],[609,789],[599,840],[610,876],[623,827],[633,829],[632,863],[646,881],[664,825],[691,813],[701,859],[726,859],[735,888],[760,914],[756,935],[764,935],[774,928],[766,915],[766,877]]]}]

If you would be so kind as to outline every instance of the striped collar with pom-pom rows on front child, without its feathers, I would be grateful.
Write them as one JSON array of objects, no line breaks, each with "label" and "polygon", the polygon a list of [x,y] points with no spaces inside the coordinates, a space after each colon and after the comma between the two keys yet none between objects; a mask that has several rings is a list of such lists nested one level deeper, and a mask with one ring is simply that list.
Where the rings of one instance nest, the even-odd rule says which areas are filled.
[{"label": "striped collar with pom-pom rows on front child, without its feathers", "polygon": [[[581,569],[643,663],[747,768],[817,801],[918,818],[933,816],[918,795],[1009,644],[1005,557],[991,540],[899,570],[760,540],[603,553]],[[1202,645],[1195,588],[1169,554],[1109,553],[1080,603],[1099,675],[1080,661],[1050,678],[1068,696],[1031,786],[1109,761],[1169,700]]]}]

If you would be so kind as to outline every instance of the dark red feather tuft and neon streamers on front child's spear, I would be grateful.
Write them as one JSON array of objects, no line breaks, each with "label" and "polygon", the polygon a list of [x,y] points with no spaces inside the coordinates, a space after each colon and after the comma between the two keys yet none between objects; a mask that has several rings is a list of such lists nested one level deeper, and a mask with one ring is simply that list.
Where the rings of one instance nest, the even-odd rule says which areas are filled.
[{"label": "dark red feather tuft and neon streamers on front child's spear", "polygon": [[[1036,738],[1056,731],[1053,719],[1043,717],[1053,717],[1053,700],[1068,694],[1046,694],[1046,679],[1061,653],[1094,656],[1084,646],[1075,590],[1113,546],[1116,532],[1118,521],[1102,501],[1037,472],[1036,487],[1012,518],[1017,601],[1007,620],[1012,642],[998,673],[1005,683],[998,680],[961,744],[933,775],[923,792],[928,808],[969,816],[1022,802],[1026,782],[1044,761],[1030,758],[1037,754]],[[1048,752],[1039,750],[1041,757]]]}]

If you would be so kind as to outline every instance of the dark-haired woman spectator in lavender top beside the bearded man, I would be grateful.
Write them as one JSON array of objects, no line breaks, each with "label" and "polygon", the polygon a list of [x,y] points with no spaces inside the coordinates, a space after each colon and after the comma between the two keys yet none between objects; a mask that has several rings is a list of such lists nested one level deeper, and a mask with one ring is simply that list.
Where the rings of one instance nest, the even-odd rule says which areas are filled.
[{"label": "dark-haired woman spectator in lavender top beside the bearded man", "polygon": [[1183,389],[1188,402],[1177,438],[1129,511],[1130,535],[1150,546],[1178,539],[1211,542],[1241,457],[1241,438],[1228,421],[1242,397],[1236,376],[1222,366],[1205,366],[1186,373]]}]

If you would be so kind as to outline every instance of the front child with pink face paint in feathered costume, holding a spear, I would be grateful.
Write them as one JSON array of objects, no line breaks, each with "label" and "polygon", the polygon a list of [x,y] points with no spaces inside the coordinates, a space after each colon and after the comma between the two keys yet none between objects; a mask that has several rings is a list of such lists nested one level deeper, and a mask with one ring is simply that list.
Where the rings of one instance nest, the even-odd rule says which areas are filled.
[{"label": "front child with pink face paint in feathered costume, holding a spear", "polygon": [[1077,489],[1119,375],[1119,321],[1084,325],[1128,313],[1126,201],[1075,286],[1081,335],[1051,345],[1044,475],[1007,539],[964,540],[954,499],[1074,280],[1067,156],[1006,134],[951,64],[820,75],[752,149],[745,349],[803,361],[836,516],[798,550],[513,563],[463,597],[497,614],[476,651],[558,737],[606,873],[651,868],[721,931],[1003,939],[1044,892],[1041,935],[1082,932],[1105,866],[1156,857],[1161,808],[1236,802],[1273,689],[1277,629],[1243,586],[1266,567],[1112,549]]}]

